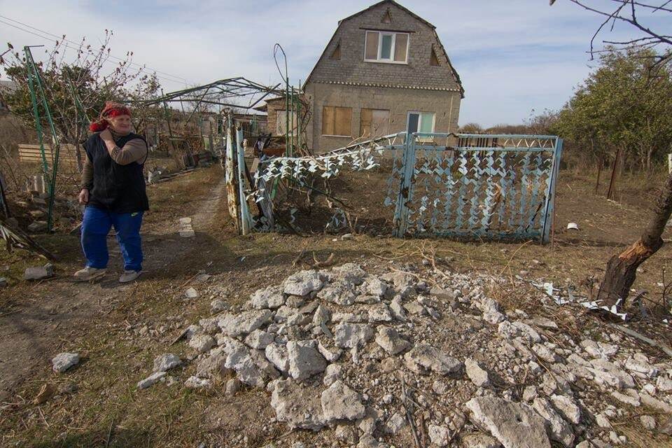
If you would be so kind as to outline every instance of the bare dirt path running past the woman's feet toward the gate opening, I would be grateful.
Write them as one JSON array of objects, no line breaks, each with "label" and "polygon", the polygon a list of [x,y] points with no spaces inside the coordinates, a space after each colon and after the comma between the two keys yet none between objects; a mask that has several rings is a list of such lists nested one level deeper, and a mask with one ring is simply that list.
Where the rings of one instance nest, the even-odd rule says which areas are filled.
[{"label": "bare dirt path running past the woman's feet toward the gate opening", "polygon": [[[143,230],[146,261],[141,281],[174,276],[172,270],[181,267],[176,260],[198,253],[207,244],[199,234],[213,224],[219,207],[225,204],[223,177],[207,197],[192,200],[199,202],[193,215],[195,238],[179,237],[176,222],[162,223],[151,233]],[[110,238],[109,248],[109,269],[102,280],[74,283],[70,272],[57,272],[55,279],[31,285],[18,306],[0,316],[0,400],[8,400],[34,370],[48,367],[57,347],[66,346],[104,320],[119,297],[134,293],[136,283],[122,285],[117,281],[121,260],[115,239]]]}]

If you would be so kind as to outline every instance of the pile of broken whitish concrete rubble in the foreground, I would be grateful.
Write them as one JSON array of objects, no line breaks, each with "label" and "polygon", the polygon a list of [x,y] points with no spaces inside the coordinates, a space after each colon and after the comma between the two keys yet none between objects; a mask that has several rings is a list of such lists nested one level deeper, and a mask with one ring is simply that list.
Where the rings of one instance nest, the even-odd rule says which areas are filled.
[{"label": "pile of broken whitish concrete rubble in the foreground", "polygon": [[[316,446],[610,447],[628,443],[612,421],[630,416],[672,430],[668,359],[606,325],[575,340],[504,311],[489,276],[421,277],[348,263],[257,290],[188,329],[198,355],[185,384],[266,388],[270,423],[316,431]],[[153,381],[180,363],[162,355]]]}]

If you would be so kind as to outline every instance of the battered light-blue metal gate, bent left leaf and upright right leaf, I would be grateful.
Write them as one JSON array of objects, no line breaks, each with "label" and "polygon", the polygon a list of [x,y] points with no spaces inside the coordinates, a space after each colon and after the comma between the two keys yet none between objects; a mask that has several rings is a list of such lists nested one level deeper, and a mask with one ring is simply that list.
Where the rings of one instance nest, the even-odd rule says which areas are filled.
[{"label": "battered light-blue metal gate, bent left leaf and upright right leaf", "polygon": [[[401,132],[314,157],[271,158],[255,173],[255,189],[243,191],[240,176],[236,195],[241,202],[247,198],[260,204],[262,214],[253,218],[240,210],[245,216],[238,218],[249,223],[241,228],[278,230],[277,213],[286,202],[274,199],[270,186],[368,171],[386,183],[378,207],[393,215],[393,235],[538,238],[543,243],[552,223],[561,151],[562,140],[554,136]],[[284,218],[288,225],[295,211]]]}]

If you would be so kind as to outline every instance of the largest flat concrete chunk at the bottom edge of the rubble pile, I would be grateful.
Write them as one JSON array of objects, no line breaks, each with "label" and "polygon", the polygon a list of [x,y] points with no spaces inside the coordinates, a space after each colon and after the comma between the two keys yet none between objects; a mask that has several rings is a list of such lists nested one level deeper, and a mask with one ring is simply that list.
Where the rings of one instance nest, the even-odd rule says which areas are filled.
[{"label": "largest flat concrete chunk at the bottom edge of the rubble pile", "polygon": [[505,448],[550,448],[545,420],[528,405],[496,397],[476,397],[466,403],[472,418]]}]

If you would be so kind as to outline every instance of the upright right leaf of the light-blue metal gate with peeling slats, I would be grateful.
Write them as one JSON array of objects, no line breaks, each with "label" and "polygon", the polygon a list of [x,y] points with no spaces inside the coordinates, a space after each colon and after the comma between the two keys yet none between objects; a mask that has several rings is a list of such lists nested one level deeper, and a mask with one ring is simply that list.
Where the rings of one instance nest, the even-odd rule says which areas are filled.
[{"label": "upright right leaf of the light-blue metal gate with peeling slats", "polygon": [[386,198],[395,207],[396,236],[548,241],[558,137],[414,133],[390,149],[401,158]]}]

